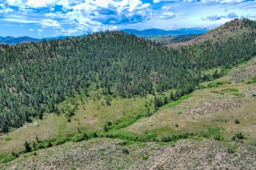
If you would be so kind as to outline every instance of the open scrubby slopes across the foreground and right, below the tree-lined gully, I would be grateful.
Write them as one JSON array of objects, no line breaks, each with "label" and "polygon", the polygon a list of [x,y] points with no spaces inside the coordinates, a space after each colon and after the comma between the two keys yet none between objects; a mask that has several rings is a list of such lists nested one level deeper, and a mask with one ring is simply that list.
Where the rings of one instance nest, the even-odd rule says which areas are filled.
[{"label": "open scrubby slopes across the foreground and right, below the tree-lined gully", "polygon": [[[249,76],[244,77],[244,74]],[[194,133],[189,139],[144,143],[94,138],[37,150],[35,156],[23,154],[2,168],[253,169],[256,156],[255,78],[256,57],[217,80],[203,83],[206,88],[196,90],[181,104],[163,106],[153,116],[110,132],[155,135],[159,141],[174,134]],[[236,119],[240,124],[234,123]],[[238,132],[242,132],[245,139],[232,141],[232,135]]]}]

